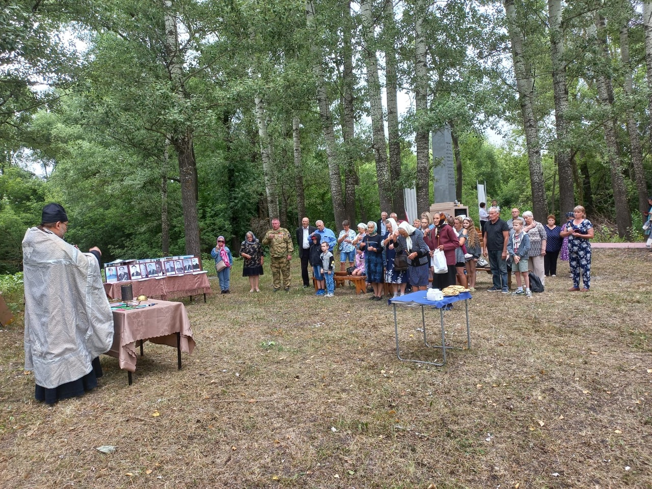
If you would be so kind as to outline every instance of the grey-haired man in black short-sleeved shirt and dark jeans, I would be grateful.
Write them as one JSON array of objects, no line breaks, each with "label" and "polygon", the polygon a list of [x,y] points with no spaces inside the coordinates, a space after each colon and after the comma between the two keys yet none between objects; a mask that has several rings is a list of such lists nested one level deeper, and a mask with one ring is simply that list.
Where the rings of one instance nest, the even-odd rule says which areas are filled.
[{"label": "grey-haired man in black short-sleeved shirt and dark jeans", "polygon": [[507,222],[500,218],[497,207],[489,207],[489,220],[482,231],[482,250],[489,259],[489,266],[493,277],[493,286],[490,292],[509,293],[507,286],[507,242],[509,241],[509,228]]}]

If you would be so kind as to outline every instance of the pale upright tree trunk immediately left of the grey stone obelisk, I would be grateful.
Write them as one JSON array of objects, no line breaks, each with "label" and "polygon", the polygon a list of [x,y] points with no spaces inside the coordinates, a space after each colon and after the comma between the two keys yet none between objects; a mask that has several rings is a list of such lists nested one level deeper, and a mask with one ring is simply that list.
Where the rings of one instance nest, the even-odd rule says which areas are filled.
[{"label": "pale upright tree trunk immediately left of the grey stone obelisk", "polygon": [[[415,11],[415,109],[417,119],[428,111],[428,61],[426,59],[428,40],[423,22],[426,17],[426,2],[417,0]],[[430,209],[430,128],[417,125],[414,142],[417,147],[417,211]]]}]

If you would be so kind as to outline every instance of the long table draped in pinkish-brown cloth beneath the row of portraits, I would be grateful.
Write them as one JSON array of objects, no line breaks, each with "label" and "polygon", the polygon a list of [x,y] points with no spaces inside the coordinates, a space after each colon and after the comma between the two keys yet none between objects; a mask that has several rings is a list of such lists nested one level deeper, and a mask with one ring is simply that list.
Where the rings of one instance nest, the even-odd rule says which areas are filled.
[{"label": "long table draped in pinkish-brown cloth beneath the row of portraits", "polygon": [[211,293],[211,284],[208,280],[208,274],[205,272],[114,282],[113,284],[104,284],[104,291],[111,299],[121,299],[120,287],[126,284],[132,285],[134,297],[147,295],[149,298],[164,301],[186,296],[190,296],[190,299],[192,299],[193,295],[203,293],[205,302],[206,294]]}]

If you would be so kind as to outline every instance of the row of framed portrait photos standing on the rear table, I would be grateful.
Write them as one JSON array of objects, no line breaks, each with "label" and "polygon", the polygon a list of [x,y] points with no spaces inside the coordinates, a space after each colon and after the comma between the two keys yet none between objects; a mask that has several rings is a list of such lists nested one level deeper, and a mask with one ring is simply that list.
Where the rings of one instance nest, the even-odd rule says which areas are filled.
[{"label": "row of framed portrait photos standing on the rear table", "polygon": [[156,258],[151,260],[128,261],[122,263],[107,263],[104,265],[106,283],[125,282],[125,280],[140,280],[142,278],[163,277],[168,275],[183,275],[201,271],[200,260],[192,258]]}]

